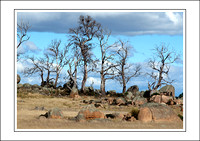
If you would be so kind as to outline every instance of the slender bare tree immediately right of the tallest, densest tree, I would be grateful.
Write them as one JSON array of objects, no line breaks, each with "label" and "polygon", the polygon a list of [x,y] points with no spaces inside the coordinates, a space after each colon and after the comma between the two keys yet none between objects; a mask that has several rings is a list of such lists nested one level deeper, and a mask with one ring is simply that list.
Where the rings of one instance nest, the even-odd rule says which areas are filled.
[{"label": "slender bare tree immediately right of the tallest, densest tree", "polygon": [[118,64],[113,63],[114,56],[117,54],[117,52],[111,52],[110,49],[113,49],[116,47],[116,44],[108,45],[108,40],[111,35],[111,32],[106,29],[100,30],[98,40],[99,40],[99,47],[101,49],[101,69],[100,75],[101,75],[101,94],[105,94],[105,83],[108,79],[114,79],[115,77],[115,67],[118,66]]}]

